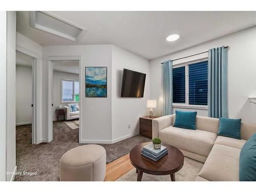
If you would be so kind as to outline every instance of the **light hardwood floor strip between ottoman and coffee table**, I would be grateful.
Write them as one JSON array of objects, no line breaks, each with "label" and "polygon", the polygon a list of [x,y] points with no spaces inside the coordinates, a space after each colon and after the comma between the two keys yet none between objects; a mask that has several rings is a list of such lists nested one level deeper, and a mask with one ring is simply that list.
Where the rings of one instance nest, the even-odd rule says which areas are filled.
[{"label": "light hardwood floor strip between ottoman and coffee table", "polygon": [[124,174],[130,172],[134,166],[130,161],[130,154],[127,154],[115,161],[106,164],[106,176],[104,181],[115,181]]}]

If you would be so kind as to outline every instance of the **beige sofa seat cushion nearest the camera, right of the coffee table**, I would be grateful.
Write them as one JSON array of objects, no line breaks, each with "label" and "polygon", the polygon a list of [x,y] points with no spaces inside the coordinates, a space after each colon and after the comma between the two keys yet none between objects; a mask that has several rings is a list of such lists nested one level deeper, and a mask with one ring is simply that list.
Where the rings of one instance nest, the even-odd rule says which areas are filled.
[{"label": "beige sofa seat cushion nearest the camera, right of the coffee table", "polygon": [[240,149],[215,144],[198,174],[209,181],[239,181]]}]

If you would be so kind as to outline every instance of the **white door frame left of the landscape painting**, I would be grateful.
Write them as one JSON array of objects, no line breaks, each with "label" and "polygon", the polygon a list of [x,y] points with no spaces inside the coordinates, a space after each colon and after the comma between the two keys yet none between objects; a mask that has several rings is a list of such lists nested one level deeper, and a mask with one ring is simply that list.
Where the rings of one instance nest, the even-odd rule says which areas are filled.
[{"label": "white door frame left of the landscape painting", "polygon": [[53,140],[53,110],[52,110],[52,80],[53,80],[53,62],[54,61],[78,61],[79,62],[79,143],[82,135],[82,57],[81,56],[48,56],[46,57],[48,66],[48,142]]}]

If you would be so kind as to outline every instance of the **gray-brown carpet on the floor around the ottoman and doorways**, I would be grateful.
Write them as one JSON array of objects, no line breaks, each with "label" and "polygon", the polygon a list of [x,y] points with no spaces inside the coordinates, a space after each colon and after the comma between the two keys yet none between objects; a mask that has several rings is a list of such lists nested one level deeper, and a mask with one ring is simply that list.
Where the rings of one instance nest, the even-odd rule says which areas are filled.
[{"label": "gray-brown carpet on the floor around the ottoman and doorways", "polygon": [[[31,125],[16,126],[16,165],[19,172],[37,172],[37,175],[15,176],[15,181],[58,181],[60,157],[76,146],[79,129],[71,130],[65,123],[53,123],[53,141],[31,144]],[[136,135],[114,144],[100,144],[106,150],[106,163],[122,157],[139,143],[150,139]]]}]

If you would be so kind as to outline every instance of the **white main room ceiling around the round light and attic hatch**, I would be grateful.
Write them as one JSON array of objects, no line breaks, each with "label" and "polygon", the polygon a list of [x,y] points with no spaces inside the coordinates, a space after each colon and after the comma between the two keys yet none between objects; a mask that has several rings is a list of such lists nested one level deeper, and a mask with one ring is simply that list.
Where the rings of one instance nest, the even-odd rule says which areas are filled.
[{"label": "white main room ceiling around the round light and attic hatch", "polygon": [[[29,12],[17,12],[17,31],[40,45],[113,44],[153,59],[256,25],[255,11],[51,11],[88,31],[78,42],[29,26]],[[166,36],[180,39],[167,42]],[[228,45],[227,45],[228,46]]]}]

